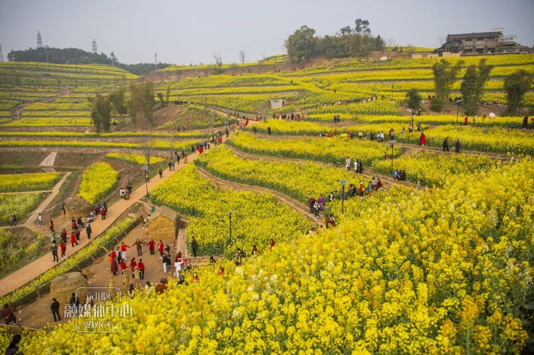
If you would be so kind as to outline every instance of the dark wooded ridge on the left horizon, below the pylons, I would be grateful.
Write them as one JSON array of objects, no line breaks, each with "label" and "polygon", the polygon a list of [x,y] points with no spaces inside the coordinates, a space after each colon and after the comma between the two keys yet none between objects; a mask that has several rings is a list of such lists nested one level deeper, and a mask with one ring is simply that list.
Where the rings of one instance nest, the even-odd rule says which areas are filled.
[{"label": "dark wooded ridge on the left horizon, below the pylons", "polygon": [[[108,64],[116,66],[136,75],[145,75],[155,70],[154,63],[124,64],[119,62],[115,54],[92,53],[78,48],[42,47],[11,51],[7,54],[9,61],[43,62],[53,64]],[[171,64],[158,63],[158,69],[167,68]]]}]

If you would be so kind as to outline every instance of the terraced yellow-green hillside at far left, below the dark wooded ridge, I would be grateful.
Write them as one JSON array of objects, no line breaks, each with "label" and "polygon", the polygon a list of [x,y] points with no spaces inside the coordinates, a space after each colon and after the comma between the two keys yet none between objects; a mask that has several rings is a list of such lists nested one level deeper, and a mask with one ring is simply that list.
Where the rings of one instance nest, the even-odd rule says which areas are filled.
[{"label": "terraced yellow-green hillside at far left, below the dark wooded ridge", "polygon": [[[0,117],[4,126],[88,126],[88,98],[137,79],[105,65],[0,63]],[[10,110],[19,110],[10,113]],[[23,109],[22,109],[23,107]],[[12,119],[9,119],[12,118]]]}]

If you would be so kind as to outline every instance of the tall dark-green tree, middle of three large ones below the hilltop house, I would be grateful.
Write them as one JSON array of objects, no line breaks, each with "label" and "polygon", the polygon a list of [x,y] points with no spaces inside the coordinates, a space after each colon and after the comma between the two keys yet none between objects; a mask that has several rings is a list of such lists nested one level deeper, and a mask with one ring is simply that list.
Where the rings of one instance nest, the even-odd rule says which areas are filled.
[{"label": "tall dark-green tree, middle of three large ones below the hilltop house", "polygon": [[484,95],[484,85],[490,78],[491,66],[486,64],[482,59],[475,65],[469,66],[464,75],[464,80],[460,85],[462,94],[462,106],[466,115],[476,115],[478,113],[478,103],[481,102]]}]

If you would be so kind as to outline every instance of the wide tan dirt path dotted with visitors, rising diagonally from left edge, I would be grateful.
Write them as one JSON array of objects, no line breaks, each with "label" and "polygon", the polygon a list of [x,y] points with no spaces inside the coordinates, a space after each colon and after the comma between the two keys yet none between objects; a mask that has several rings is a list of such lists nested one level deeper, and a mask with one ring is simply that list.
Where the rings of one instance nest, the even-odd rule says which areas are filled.
[{"label": "wide tan dirt path dotted with visitors, rising diagonally from left edge", "polygon": [[[226,137],[223,135],[223,141],[226,140]],[[189,154],[187,156],[188,164],[192,164],[193,160],[198,157],[198,152],[194,152],[192,154]],[[176,171],[180,170],[184,166],[184,160],[180,160],[180,164],[176,166]],[[159,178],[159,176],[154,176],[149,182],[148,182],[148,191],[151,191],[153,188],[155,188],[157,185],[159,185],[161,182],[167,180],[172,174],[174,174],[176,171],[169,171],[164,170],[163,171],[163,178]],[[130,196],[129,200],[119,200],[115,204],[108,207],[108,217],[105,220],[97,219],[95,222],[91,223],[92,228],[92,236],[96,237],[103,231],[105,231],[119,216],[126,211],[130,206],[135,204],[140,199],[143,199],[146,196],[146,188],[145,185],[141,185],[139,188],[134,190],[132,192],[132,195]],[[52,198],[53,199],[53,198]],[[52,200],[50,199],[50,201]],[[41,207],[41,206],[40,206]],[[38,212],[34,212],[34,214]],[[37,214],[35,214],[35,218],[37,218]],[[33,215],[32,215],[33,216]],[[33,221],[34,219],[28,219],[28,221]],[[37,228],[37,227],[35,227]],[[41,231],[42,232],[42,231]],[[59,236],[58,236],[59,237]],[[85,230],[82,230],[82,237],[80,238],[80,241],[78,242],[79,245],[75,246],[74,248],[70,246],[70,244],[67,244],[67,252],[66,256],[72,255],[74,252],[76,252],[78,249],[82,248],[83,246],[87,245],[89,240],[86,238],[87,234],[85,233]],[[67,237],[67,241],[70,240],[70,237]],[[53,267],[53,265],[56,265],[56,262],[53,262],[50,260],[50,255],[44,255],[40,257],[39,259],[34,260],[33,262],[29,263],[25,267],[12,272],[10,275],[7,275],[6,277],[0,279],[0,285],[2,285],[2,289],[0,289],[0,296],[4,296],[10,292],[12,292],[14,289],[17,289],[18,287],[26,284],[28,281],[34,279],[35,277],[41,275],[41,273],[45,272],[46,270]]]}]

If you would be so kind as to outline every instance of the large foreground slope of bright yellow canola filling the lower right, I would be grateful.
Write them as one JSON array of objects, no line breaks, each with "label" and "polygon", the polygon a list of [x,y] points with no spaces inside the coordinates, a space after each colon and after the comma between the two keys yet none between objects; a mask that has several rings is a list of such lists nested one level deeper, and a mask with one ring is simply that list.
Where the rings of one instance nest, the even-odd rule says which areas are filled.
[{"label": "large foreground slope of bright yellow canola filling the lower right", "polygon": [[532,176],[530,160],[469,184],[452,176],[370,206],[367,218],[262,247],[239,267],[200,267],[198,283],[186,273],[187,285],[171,279],[162,295],[123,298],[135,316],[120,333],[73,346],[70,323],[28,335],[21,350],[519,355],[534,275]]}]

